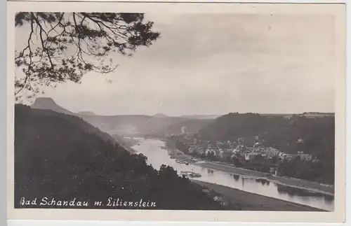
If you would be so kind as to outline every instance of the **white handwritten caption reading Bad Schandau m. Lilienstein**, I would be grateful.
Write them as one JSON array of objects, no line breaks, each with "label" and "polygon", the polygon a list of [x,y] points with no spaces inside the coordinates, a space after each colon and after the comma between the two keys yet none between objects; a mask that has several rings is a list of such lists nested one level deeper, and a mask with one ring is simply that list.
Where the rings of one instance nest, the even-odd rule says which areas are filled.
[{"label": "white handwritten caption reading Bad Schandau m. Lilienstein", "polygon": [[[20,206],[37,206],[37,198],[25,199],[25,197],[22,197]],[[77,202],[76,198],[72,200],[55,200],[54,198],[48,199],[48,197],[44,197],[41,199],[39,206],[89,206],[89,202]],[[94,202],[94,206],[102,206],[102,202]],[[156,207],[156,202],[143,202],[143,199],[140,199],[138,202],[126,202],[123,199],[109,197],[106,206]]]}]

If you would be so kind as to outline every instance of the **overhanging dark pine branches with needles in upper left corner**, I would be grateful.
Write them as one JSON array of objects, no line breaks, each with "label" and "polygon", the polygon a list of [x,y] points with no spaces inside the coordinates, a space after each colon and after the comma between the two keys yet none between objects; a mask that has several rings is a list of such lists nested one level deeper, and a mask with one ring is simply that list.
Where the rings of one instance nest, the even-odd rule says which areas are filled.
[{"label": "overhanging dark pine branches with needles in upper left corner", "polygon": [[111,52],[131,56],[159,38],[143,13],[22,12],[15,26],[29,27],[25,48],[15,50],[15,66],[25,74],[15,77],[16,97],[41,85],[79,83],[89,71],[110,73],[117,67]]}]

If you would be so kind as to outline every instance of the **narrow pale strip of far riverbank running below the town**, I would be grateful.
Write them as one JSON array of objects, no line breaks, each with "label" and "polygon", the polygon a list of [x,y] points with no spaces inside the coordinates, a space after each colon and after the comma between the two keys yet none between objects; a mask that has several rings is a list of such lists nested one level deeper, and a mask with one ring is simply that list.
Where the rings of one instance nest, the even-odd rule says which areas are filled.
[{"label": "narrow pale strip of far riverbank running below the town", "polygon": [[267,174],[259,171],[253,171],[249,169],[242,169],[237,167],[231,167],[225,164],[219,164],[215,162],[201,162],[195,163],[195,165],[200,167],[207,167],[211,169],[218,169],[220,171],[230,172],[232,174],[238,174],[242,176],[255,176],[258,178],[265,178],[267,181],[272,183],[278,183],[281,185],[287,185],[293,188],[300,188],[303,190],[309,190],[311,192],[318,192],[324,195],[334,195],[334,189],[328,186],[321,185],[319,183],[314,183],[311,181],[303,181],[296,178],[284,178],[279,176],[267,176]]}]

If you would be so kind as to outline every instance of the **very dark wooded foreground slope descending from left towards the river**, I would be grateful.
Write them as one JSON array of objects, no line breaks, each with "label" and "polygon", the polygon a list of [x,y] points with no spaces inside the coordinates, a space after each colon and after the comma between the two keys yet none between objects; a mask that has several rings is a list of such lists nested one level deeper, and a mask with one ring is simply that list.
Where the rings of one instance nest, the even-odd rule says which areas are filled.
[{"label": "very dark wooded foreground slope descending from left towards the river", "polygon": [[[157,202],[156,209],[223,209],[187,178],[144,155],[105,141],[72,115],[15,106],[15,207],[20,198],[107,203],[107,198]],[[38,208],[72,208],[37,206]],[[35,208],[35,207],[34,207]],[[73,208],[79,208],[74,206]],[[135,208],[89,206],[97,209]]]}]

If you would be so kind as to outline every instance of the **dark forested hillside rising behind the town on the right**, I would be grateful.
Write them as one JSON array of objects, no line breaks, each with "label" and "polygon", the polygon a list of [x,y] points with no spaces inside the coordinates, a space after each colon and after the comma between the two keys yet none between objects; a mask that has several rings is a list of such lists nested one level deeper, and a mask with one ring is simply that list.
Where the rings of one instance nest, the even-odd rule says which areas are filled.
[{"label": "dark forested hillside rising behind the town on the right", "polygon": [[335,150],[335,118],[333,116],[306,118],[293,115],[266,117],[254,113],[223,115],[200,129],[201,139],[237,140],[244,137],[248,146],[256,136],[264,146],[271,146],[286,153],[305,151],[320,158],[333,156]]}]

